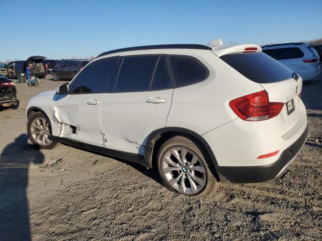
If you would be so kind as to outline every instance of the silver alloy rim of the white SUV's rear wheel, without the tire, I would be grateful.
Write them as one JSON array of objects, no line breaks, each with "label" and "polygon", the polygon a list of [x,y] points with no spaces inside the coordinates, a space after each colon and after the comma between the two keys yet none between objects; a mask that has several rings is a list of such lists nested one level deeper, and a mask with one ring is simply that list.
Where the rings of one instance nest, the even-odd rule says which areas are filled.
[{"label": "silver alloy rim of the white SUV's rear wheel, without the tire", "polygon": [[199,193],[206,184],[202,161],[187,148],[170,149],[163,157],[162,171],[167,182],[180,193]]}]

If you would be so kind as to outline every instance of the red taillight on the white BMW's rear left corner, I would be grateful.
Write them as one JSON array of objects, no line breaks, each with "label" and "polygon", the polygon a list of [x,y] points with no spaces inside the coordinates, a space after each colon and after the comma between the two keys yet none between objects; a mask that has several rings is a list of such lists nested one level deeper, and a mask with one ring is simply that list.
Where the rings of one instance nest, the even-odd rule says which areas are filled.
[{"label": "red taillight on the white BMW's rear left corner", "polygon": [[245,95],[229,102],[230,108],[245,121],[263,121],[278,115],[284,103],[269,102],[266,90]]}]

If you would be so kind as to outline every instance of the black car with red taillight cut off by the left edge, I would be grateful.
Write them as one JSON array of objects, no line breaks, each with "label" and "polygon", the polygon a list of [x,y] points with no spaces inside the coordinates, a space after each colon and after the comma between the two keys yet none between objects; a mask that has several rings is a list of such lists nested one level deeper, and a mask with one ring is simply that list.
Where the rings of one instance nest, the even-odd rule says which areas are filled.
[{"label": "black car with red taillight cut off by the left edge", "polygon": [[0,106],[17,106],[17,90],[14,82],[0,74]]}]

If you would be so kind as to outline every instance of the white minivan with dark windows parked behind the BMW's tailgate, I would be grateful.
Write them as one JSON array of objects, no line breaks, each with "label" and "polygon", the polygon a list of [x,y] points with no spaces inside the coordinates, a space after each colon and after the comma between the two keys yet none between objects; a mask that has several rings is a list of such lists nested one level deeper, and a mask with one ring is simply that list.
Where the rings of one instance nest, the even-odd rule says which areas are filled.
[{"label": "white minivan with dark windows parked behind the BMW's tailgate", "polygon": [[320,58],[313,44],[285,43],[262,46],[263,52],[298,73],[302,80],[311,80],[321,72]]}]

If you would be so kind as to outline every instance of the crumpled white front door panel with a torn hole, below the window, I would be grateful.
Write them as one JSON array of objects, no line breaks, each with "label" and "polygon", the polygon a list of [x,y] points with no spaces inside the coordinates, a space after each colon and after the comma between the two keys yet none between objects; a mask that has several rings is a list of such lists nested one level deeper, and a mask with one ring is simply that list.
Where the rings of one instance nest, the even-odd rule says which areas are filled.
[{"label": "crumpled white front door panel with a torn hole, below the window", "polygon": [[[104,146],[104,136],[100,121],[100,99],[105,93],[68,94],[59,96],[55,102],[55,118],[57,119],[61,138]],[[97,104],[94,101],[98,101]]]}]

